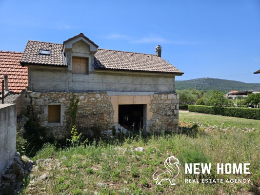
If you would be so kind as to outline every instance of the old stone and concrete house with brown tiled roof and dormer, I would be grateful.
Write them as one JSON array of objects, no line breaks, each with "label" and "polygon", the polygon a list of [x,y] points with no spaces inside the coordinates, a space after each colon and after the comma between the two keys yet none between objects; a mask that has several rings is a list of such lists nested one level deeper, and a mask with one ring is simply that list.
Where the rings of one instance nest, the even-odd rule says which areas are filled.
[{"label": "old stone and concrete house with brown tiled roof and dormer", "polygon": [[[76,126],[92,136],[116,129],[178,128],[175,76],[183,72],[156,55],[98,49],[82,33],[63,44],[29,40],[20,64],[28,68],[22,112],[49,135],[66,137],[72,97],[79,99]],[[97,133],[97,132],[96,132]]]}]

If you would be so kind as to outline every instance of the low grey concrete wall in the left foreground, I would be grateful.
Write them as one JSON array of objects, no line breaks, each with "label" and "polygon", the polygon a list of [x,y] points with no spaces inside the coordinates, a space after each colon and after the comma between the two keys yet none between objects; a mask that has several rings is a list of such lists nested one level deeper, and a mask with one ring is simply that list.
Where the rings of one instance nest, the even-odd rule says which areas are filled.
[{"label": "low grey concrete wall in the left foreground", "polygon": [[0,104],[0,174],[16,153],[16,104]]}]

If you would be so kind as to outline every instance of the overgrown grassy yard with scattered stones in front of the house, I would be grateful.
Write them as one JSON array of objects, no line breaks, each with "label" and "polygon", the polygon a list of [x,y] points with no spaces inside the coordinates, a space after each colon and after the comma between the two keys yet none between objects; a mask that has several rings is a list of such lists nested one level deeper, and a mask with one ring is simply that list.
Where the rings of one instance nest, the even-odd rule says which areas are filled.
[{"label": "overgrown grassy yard with scattered stones in front of the house", "polygon": [[[260,120],[180,113],[179,134],[99,141],[56,149],[46,144],[34,159],[37,166],[24,194],[31,195],[219,195],[259,194]],[[143,147],[143,152],[136,151]],[[165,171],[164,160],[176,156],[176,185],[153,174]],[[42,158],[42,159],[41,159]],[[39,160],[40,159],[40,160]],[[212,163],[207,175],[185,175],[185,163]],[[250,163],[250,175],[218,175],[217,163]],[[47,179],[40,179],[43,174]],[[185,179],[250,179],[248,183],[185,183]]]}]

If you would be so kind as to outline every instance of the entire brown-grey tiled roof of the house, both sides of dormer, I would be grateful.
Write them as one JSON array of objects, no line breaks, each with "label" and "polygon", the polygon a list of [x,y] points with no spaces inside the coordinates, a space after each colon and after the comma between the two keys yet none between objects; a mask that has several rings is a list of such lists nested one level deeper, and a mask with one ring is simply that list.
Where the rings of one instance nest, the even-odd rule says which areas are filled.
[{"label": "entire brown-grey tiled roof of the house, both sides of dormer", "polygon": [[[40,55],[40,49],[50,50],[51,55]],[[62,44],[29,40],[20,62],[22,65],[28,63],[64,67],[61,50]],[[98,49],[98,52],[95,54],[94,63],[95,69],[183,74],[183,72],[169,62],[152,54]]]}]

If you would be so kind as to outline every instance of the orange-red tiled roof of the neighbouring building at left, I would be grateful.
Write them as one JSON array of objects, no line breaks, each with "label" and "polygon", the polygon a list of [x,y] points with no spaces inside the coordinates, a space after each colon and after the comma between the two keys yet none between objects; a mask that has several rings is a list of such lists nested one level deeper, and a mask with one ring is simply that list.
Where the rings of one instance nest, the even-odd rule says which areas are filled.
[{"label": "orange-red tiled roof of the neighbouring building at left", "polygon": [[28,86],[27,67],[20,65],[21,55],[21,52],[0,51],[0,80],[8,75],[8,88],[13,93],[20,93]]}]

